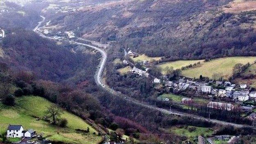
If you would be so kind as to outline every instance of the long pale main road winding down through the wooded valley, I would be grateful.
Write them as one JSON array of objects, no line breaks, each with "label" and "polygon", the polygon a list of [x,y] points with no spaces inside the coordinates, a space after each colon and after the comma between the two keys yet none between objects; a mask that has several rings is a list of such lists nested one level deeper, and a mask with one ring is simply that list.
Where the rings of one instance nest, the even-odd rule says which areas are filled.
[{"label": "long pale main road winding down through the wooded valley", "polygon": [[[106,87],[103,84],[102,80],[101,80],[101,75],[102,75],[103,70],[104,70],[105,62],[107,60],[107,53],[101,48],[98,48],[96,46],[92,46],[92,45],[89,45],[89,44],[86,44],[86,43],[81,43],[81,42],[76,42],[76,41],[73,41],[73,40],[68,40],[64,37],[62,37],[62,39],[57,39],[57,38],[54,38],[54,37],[45,36],[44,34],[42,34],[39,31],[41,24],[45,21],[45,17],[41,16],[41,18],[43,18],[43,20],[40,21],[38,23],[38,25],[33,29],[33,31],[36,32],[37,34],[39,34],[41,37],[45,37],[45,38],[48,38],[48,39],[68,41],[69,43],[75,43],[75,44],[78,44],[78,45],[87,46],[87,47],[93,48],[95,50],[98,50],[101,53],[102,58],[101,58],[101,62],[99,64],[100,66],[99,66],[99,68],[97,69],[97,71],[94,75],[94,79],[95,79],[97,85],[99,85],[103,89],[109,91],[111,94],[119,96],[119,97],[125,99],[126,101],[130,101],[131,103],[134,103],[135,105],[146,107],[146,108],[149,108],[151,110],[158,110],[158,111],[163,112],[165,114],[173,114],[173,115],[178,115],[178,116],[183,116],[183,117],[190,117],[190,118],[198,119],[198,120],[201,120],[201,121],[209,121],[209,122],[212,122],[212,123],[217,123],[217,124],[222,124],[222,125],[230,125],[230,126],[239,127],[239,128],[245,127],[245,126],[251,127],[251,126],[248,126],[248,125],[242,125],[242,124],[237,124],[237,123],[229,123],[229,122],[226,122],[226,121],[219,121],[219,120],[216,120],[216,119],[207,119],[205,117],[201,117],[201,116],[198,116],[198,115],[195,115],[195,114],[188,114],[188,113],[177,112],[177,111],[173,111],[173,110],[170,111],[170,110],[166,110],[166,109],[163,109],[163,108],[155,107],[153,105],[149,105],[149,104],[146,104],[146,103],[142,103],[141,101],[137,101],[134,98],[125,96],[123,94],[120,94],[120,93],[114,91],[114,89],[110,89],[110,88]],[[91,43],[92,42],[97,43],[96,41],[89,41],[89,40],[82,39],[82,38],[78,38],[78,39],[79,40],[84,40],[84,41],[87,41],[87,42],[91,42]]]}]

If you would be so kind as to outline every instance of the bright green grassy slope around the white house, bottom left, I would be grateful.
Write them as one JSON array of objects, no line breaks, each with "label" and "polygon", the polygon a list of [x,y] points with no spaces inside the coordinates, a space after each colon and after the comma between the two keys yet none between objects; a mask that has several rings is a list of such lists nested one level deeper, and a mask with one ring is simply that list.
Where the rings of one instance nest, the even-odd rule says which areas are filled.
[{"label": "bright green grassy slope around the white house, bottom left", "polygon": [[[62,118],[68,120],[66,128],[59,128],[57,126],[50,125],[46,121],[37,121],[34,117],[42,118],[45,115],[47,107],[53,105],[44,98],[38,96],[23,96],[16,98],[16,105],[9,107],[0,104],[0,132],[4,133],[9,124],[21,124],[24,129],[32,128],[37,133],[42,134],[52,141],[59,141],[63,143],[72,144],[96,144],[100,142],[101,137],[93,134],[97,134],[96,130],[89,126],[81,118],[64,111],[61,115]],[[89,127],[90,132],[86,134],[76,133],[75,129],[86,130]]]}]

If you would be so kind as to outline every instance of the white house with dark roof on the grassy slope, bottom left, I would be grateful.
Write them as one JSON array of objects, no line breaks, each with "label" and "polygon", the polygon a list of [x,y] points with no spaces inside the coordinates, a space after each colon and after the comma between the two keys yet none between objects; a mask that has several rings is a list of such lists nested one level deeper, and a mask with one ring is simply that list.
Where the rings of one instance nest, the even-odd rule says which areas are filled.
[{"label": "white house with dark roof on the grassy slope, bottom left", "polygon": [[21,125],[9,125],[6,137],[23,137],[23,130]]}]

